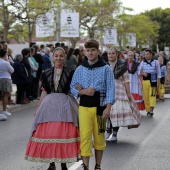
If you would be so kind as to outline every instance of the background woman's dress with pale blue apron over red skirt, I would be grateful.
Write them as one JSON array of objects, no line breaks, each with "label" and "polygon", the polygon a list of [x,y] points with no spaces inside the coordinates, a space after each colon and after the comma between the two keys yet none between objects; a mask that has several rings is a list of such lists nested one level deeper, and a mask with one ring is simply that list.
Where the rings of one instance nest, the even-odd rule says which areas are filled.
[{"label": "background woman's dress with pale blue apron over red skirt", "polygon": [[138,105],[139,110],[145,110],[145,104],[143,99],[142,84],[138,76],[139,63],[126,62],[129,76],[130,76],[130,92]]}]

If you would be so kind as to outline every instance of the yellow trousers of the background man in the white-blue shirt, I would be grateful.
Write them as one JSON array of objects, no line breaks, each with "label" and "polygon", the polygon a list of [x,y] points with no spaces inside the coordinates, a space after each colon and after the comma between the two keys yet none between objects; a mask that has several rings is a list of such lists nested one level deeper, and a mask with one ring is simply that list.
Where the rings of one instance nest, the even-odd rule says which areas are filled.
[{"label": "yellow trousers of the background man in the white-blue shirt", "polygon": [[156,106],[156,87],[151,87],[150,80],[143,80],[142,85],[145,108],[150,112],[150,108]]}]

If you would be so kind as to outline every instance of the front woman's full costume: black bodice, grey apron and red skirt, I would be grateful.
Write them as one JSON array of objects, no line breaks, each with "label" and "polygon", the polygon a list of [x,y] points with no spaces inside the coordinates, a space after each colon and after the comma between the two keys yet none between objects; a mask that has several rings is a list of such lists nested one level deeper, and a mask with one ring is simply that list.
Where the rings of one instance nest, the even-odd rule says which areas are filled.
[{"label": "front woman's full costume: black bodice, grey apron and red skirt", "polygon": [[47,92],[32,125],[25,159],[34,162],[76,162],[80,154],[78,105],[69,95],[73,72],[66,67],[43,72]]}]

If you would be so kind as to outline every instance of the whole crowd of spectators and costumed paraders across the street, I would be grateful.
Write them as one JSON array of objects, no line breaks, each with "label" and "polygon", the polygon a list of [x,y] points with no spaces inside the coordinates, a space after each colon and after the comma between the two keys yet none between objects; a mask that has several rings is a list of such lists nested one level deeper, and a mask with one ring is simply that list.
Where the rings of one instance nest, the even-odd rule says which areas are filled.
[{"label": "whole crowd of spectators and costumed paraders across the street", "polygon": [[120,127],[138,128],[140,111],[154,115],[156,99],[164,101],[165,81],[170,81],[170,55],[164,51],[101,52],[90,39],[76,49],[59,42],[30,44],[13,57],[1,42],[0,120],[11,115],[7,104],[16,84],[17,104],[39,99],[25,159],[49,163],[48,170],[56,170],[55,162],[67,170],[67,163],[82,159],[88,170],[94,148],[94,169],[100,170],[106,141],[117,141]]}]

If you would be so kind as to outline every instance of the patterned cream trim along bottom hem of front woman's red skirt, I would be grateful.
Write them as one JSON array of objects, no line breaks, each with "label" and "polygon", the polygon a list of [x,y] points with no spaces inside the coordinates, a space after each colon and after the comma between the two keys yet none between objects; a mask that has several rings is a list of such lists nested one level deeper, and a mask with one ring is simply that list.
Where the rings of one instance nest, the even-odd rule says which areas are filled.
[{"label": "patterned cream trim along bottom hem of front woman's red skirt", "polygon": [[77,157],[74,158],[34,158],[30,156],[25,156],[25,160],[31,161],[31,162],[41,162],[41,163],[52,163],[52,162],[57,162],[57,163],[72,163],[72,162],[77,162],[80,160],[81,156],[78,155]]}]

